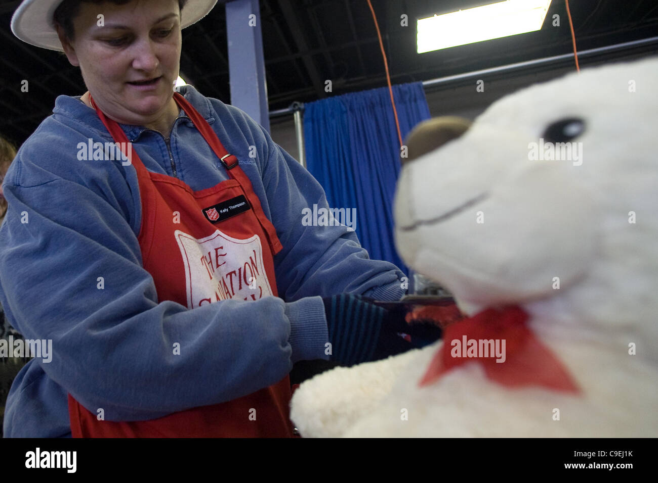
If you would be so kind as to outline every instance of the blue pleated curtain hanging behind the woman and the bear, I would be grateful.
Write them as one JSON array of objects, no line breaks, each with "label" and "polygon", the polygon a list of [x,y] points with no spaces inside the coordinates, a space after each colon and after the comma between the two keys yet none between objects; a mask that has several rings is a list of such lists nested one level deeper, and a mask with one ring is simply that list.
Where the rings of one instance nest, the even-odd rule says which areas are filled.
[{"label": "blue pleated curtain hanging behind the woman and the bear", "polygon": [[[430,118],[422,83],[393,86],[404,139]],[[388,87],[305,104],[307,167],[332,208],[356,208],[356,232],[370,258],[408,273],[393,242],[393,195],[400,147]]]}]

